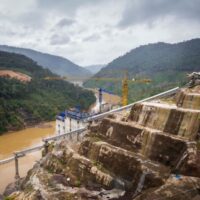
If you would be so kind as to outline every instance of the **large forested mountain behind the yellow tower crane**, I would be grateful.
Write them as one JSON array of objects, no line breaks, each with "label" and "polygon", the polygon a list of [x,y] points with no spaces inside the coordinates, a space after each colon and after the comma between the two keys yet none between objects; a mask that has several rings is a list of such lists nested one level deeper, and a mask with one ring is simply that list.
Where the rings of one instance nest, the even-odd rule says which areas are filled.
[{"label": "large forested mountain behind the yellow tower crane", "polygon": [[[129,101],[134,101],[185,84],[189,72],[200,71],[200,39],[177,44],[155,43],[140,46],[113,60],[94,77],[84,83],[87,87],[103,87],[121,95],[121,81],[106,81],[105,77],[129,79],[150,78],[152,82],[129,82]],[[93,77],[93,78],[94,78]]]}]

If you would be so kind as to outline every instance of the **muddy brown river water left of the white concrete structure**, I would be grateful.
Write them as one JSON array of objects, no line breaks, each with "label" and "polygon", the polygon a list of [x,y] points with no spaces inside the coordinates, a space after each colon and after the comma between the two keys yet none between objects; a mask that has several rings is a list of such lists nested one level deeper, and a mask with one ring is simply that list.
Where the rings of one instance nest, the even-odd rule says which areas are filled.
[{"label": "muddy brown river water left of the white concrete structure", "polygon": [[[27,147],[41,143],[42,138],[54,135],[55,122],[48,122],[35,127],[26,128],[0,136],[0,160],[12,156],[14,151],[19,151]],[[34,165],[36,160],[41,157],[41,152],[28,154],[19,159],[20,176],[26,175],[27,171]],[[15,167],[14,162],[0,165],[0,193],[6,185],[14,181]]]}]

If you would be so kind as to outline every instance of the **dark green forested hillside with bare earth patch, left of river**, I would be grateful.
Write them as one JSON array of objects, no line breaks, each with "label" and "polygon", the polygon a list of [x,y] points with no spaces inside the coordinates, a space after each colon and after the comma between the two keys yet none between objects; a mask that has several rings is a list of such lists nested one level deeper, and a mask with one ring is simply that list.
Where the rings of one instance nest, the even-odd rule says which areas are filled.
[{"label": "dark green forested hillside with bare earth patch, left of river", "polygon": [[29,75],[32,80],[23,83],[0,77],[0,133],[54,120],[60,111],[77,105],[87,109],[95,102],[90,91],[63,80],[46,80],[56,75],[23,55],[0,51],[0,70],[5,69]]}]

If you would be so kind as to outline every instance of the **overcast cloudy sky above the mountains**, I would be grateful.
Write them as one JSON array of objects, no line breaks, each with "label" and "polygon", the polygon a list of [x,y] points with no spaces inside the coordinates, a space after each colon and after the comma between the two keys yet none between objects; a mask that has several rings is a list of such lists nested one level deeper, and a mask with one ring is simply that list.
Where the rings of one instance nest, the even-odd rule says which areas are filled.
[{"label": "overcast cloudy sky above the mountains", "polygon": [[200,37],[200,0],[0,0],[0,44],[104,64],[142,44]]}]

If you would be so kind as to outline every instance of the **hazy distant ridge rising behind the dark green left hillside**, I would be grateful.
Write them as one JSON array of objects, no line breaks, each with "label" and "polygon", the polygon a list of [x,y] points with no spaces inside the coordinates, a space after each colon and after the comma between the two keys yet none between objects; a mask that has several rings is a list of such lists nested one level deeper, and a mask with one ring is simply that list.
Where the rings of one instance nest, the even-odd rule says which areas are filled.
[{"label": "hazy distant ridge rising behind the dark green left hillside", "polygon": [[38,65],[50,69],[52,72],[61,76],[78,78],[91,76],[90,71],[87,69],[80,67],[70,60],[60,56],[50,55],[32,49],[17,48],[6,45],[0,45],[0,50],[25,55],[36,61]]}]

